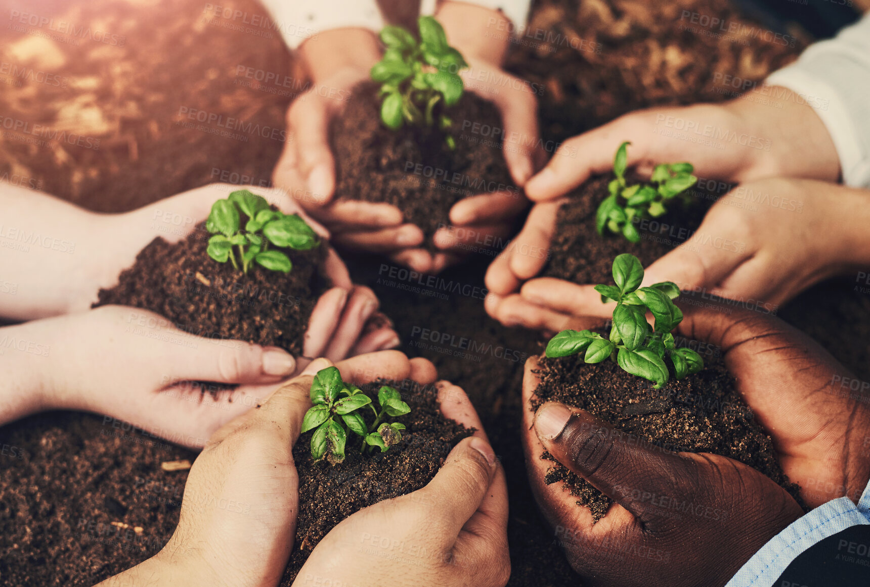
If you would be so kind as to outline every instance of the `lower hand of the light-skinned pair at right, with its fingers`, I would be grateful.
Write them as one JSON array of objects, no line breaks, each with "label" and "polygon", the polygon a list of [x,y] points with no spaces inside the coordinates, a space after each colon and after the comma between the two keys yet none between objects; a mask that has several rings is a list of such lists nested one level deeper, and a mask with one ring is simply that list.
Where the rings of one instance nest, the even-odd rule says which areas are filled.
[{"label": "lower hand of the light-skinned pair at right, with its fingers", "polygon": [[[692,237],[647,267],[643,285],[674,281],[680,289],[773,311],[821,280],[867,267],[868,198],[867,190],[821,181],[749,181],[713,204]],[[558,206],[537,204],[517,241],[545,247]],[[538,257],[514,248],[493,261],[486,282],[497,292],[486,305],[493,318],[555,331],[575,316],[610,315],[612,305],[601,303],[595,284],[538,278],[526,281],[519,294],[498,294],[515,291],[515,274],[525,277],[539,265]]]}]

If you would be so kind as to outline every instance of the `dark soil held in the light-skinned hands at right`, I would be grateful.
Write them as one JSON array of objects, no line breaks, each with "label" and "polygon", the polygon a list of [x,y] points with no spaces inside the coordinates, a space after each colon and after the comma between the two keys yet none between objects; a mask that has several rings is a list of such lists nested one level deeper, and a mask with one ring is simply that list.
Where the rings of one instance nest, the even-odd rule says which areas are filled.
[{"label": "dark soil held in the light-skinned hands at right", "polygon": [[569,200],[559,208],[550,261],[542,275],[580,284],[610,283],[613,258],[622,253],[633,254],[641,265],[649,267],[691,238],[716,197],[693,188],[688,192],[691,197],[687,204],[675,198],[659,218],[638,219],[634,226],[640,234],[639,242],[607,231],[602,237],[595,228],[595,211],[607,197],[607,183],[612,179],[612,174],[598,175],[568,195]]}]

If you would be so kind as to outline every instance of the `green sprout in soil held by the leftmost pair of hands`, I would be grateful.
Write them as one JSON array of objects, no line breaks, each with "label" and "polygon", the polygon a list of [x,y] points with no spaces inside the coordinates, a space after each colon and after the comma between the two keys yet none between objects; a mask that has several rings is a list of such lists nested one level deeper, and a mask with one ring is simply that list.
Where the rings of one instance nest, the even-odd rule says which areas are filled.
[{"label": "green sprout in soil held by the leftmost pair of hands", "polygon": [[[241,229],[243,214],[247,219],[244,230]],[[209,239],[209,256],[218,263],[230,261],[245,274],[252,261],[272,271],[290,273],[293,268],[290,257],[270,245],[298,251],[318,246],[317,234],[298,214],[272,210],[269,202],[247,189],[216,201],[205,228],[214,234]]]}]

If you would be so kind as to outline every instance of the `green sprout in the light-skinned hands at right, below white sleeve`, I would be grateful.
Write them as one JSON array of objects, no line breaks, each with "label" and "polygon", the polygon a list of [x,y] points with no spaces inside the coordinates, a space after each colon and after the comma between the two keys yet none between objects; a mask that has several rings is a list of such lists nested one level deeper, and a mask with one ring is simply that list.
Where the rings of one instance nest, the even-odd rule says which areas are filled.
[{"label": "green sprout in the light-skinned hands at right, below white sleeve", "polygon": [[686,201],[686,190],[692,188],[698,178],[692,175],[691,163],[662,163],[653,169],[650,183],[653,185],[626,185],[626,148],[632,143],[623,142],[613,157],[613,173],[616,179],[607,184],[610,193],[599,205],[595,213],[595,226],[599,234],[607,228],[614,234],[622,234],[632,242],[640,241],[634,222],[644,217],[656,218],[667,212],[665,204],[670,205],[673,198],[682,196]]}]

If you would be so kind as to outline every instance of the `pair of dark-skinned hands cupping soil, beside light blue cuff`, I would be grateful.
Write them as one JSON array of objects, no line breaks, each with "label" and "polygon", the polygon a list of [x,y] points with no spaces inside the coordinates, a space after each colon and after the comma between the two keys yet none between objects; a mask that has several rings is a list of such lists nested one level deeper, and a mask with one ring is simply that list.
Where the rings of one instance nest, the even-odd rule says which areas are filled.
[{"label": "pair of dark-skinned hands cupping soil, beside light blue cuff", "polygon": [[[681,296],[686,301],[687,294]],[[679,300],[678,305],[679,304]],[[870,410],[840,393],[853,375],[781,320],[708,300],[681,305],[678,332],[721,347],[738,392],[773,437],[780,464],[816,506],[867,485],[860,461]],[[526,402],[538,386],[525,366]],[[721,585],[802,515],[779,485],[730,458],[638,443],[588,412],[547,403],[524,411],[526,463],[539,506],[568,561],[591,585]],[[545,485],[552,453],[615,502],[592,514],[559,484]],[[680,507],[692,504],[691,510]],[[727,545],[727,548],[723,548]]]}]

